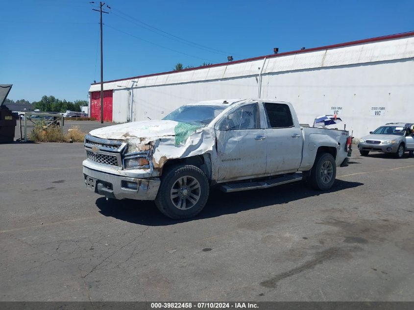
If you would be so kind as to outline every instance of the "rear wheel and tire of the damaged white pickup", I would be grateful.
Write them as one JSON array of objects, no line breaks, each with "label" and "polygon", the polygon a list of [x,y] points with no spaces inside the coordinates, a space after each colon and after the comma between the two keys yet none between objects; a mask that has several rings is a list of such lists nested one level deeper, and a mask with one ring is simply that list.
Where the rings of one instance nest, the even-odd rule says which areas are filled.
[{"label": "rear wheel and tire of the damaged white pickup", "polygon": [[308,182],[315,190],[327,191],[334,185],[336,175],[337,166],[334,157],[329,153],[321,153],[315,159]]}]

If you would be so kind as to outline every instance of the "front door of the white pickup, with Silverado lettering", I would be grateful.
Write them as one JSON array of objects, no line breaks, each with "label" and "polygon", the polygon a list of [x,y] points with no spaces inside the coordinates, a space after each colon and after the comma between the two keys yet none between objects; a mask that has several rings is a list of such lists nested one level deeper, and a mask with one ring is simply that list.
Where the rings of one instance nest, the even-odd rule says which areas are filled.
[{"label": "front door of the white pickup, with Silverado lettering", "polygon": [[239,106],[216,125],[218,180],[265,173],[266,137],[258,103]]}]

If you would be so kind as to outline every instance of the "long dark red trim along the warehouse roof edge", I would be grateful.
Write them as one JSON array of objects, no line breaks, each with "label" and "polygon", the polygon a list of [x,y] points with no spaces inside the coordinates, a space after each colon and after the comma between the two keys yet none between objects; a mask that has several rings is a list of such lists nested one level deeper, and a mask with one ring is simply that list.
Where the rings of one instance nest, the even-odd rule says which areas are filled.
[{"label": "long dark red trim along the warehouse roof edge", "polygon": [[[219,67],[219,66],[224,66],[224,65],[237,64],[237,63],[246,62],[246,61],[263,59],[265,57],[266,58],[272,58],[272,57],[279,57],[279,56],[291,55],[291,54],[296,54],[296,53],[305,53],[305,52],[309,52],[309,51],[316,51],[316,50],[322,50],[322,49],[328,49],[328,48],[341,48],[341,47],[345,47],[345,46],[357,45],[357,44],[368,43],[368,42],[376,42],[376,41],[404,38],[404,37],[409,37],[409,36],[413,36],[413,35],[414,35],[414,31],[409,31],[409,32],[391,34],[391,35],[382,36],[382,37],[375,37],[375,38],[370,38],[370,39],[357,40],[357,41],[351,41],[351,42],[345,42],[345,43],[339,43],[339,44],[333,44],[333,45],[326,45],[326,46],[318,47],[318,48],[305,48],[305,49],[299,49],[299,50],[292,50],[292,51],[288,51],[288,52],[283,52],[283,53],[279,53],[279,54],[270,54],[270,55],[265,55],[265,56],[258,56],[258,57],[240,59],[240,60],[235,60],[235,61],[229,61],[229,62],[223,62],[223,63],[219,63],[219,64],[208,65],[208,66],[204,66],[204,67],[196,67],[196,68],[189,68],[189,69],[183,69],[183,70],[178,70],[178,71],[151,73],[151,74],[146,74],[146,75],[139,75],[139,76],[121,78],[121,79],[118,79],[118,80],[104,81],[103,83],[119,82],[119,81],[131,80],[131,79],[134,79],[134,78],[143,78],[143,77],[148,77],[148,76],[164,75],[164,74],[170,74],[170,73],[175,73],[175,72],[184,72],[184,71],[193,71],[193,70],[205,69],[205,68],[213,68],[213,67]],[[97,84],[100,84],[100,83],[92,83],[91,85],[97,85]]]}]

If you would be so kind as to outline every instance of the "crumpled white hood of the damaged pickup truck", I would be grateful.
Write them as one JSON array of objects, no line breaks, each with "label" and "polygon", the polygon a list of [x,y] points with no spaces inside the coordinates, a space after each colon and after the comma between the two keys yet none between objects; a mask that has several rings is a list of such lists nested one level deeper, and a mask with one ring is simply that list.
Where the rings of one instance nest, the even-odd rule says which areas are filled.
[{"label": "crumpled white hood of the damaged pickup truck", "polygon": [[174,136],[174,128],[178,122],[175,120],[142,120],[108,127],[94,129],[90,135],[102,139],[125,140],[129,138],[159,138]]}]

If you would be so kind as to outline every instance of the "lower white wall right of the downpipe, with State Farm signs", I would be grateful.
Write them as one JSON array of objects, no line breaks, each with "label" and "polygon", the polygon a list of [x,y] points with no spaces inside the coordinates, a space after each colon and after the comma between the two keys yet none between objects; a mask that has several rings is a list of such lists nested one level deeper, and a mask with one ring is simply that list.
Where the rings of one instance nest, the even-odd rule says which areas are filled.
[{"label": "lower white wall right of the downpipe, with State Farm signs", "polygon": [[387,122],[414,122],[413,72],[412,58],[270,73],[263,76],[262,97],[292,102],[299,121],[311,125],[318,115],[337,111],[343,120],[338,127],[346,124],[362,137]]}]

